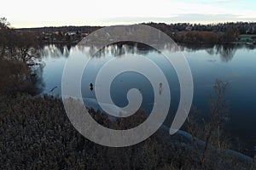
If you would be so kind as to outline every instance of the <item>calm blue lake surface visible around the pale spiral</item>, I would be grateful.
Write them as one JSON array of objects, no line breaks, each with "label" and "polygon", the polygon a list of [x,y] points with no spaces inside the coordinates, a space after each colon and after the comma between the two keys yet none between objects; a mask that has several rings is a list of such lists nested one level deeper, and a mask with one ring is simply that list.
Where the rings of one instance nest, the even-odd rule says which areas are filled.
[{"label": "calm blue lake surface visible around the pale spiral", "polygon": [[[96,47],[93,47],[96,48]],[[41,48],[43,65],[38,68],[38,85],[41,94],[61,94],[61,76],[67,57],[79,59],[89,57],[91,48],[84,46],[49,45]],[[228,98],[230,100],[230,132],[232,137],[246,141],[248,145],[256,144],[256,49],[245,45],[179,45],[177,48],[167,48],[169,54],[175,55],[181,50],[189,61],[194,79],[195,105],[201,112],[209,111],[209,96],[215,79],[230,82]],[[153,48],[143,44],[120,43],[102,48],[90,59],[84,70],[82,79],[82,94],[85,104],[98,107],[94,89],[90,90],[90,83],[94,84],[97,71],[112,57],[121,54],[142,54],[152,59],[163,70],[172,95],[171,110],[167,122],[172,121],[177,110],[179,100],[179,83],[177,75],[166,59]],[[122,65],[119,65],[120,67]],[[154,102],[154,93],[148,80],[134,72],[125,72],[116,77],[111,87],[113,102],[118,106],[127,104],[127,91],[138,88],[143,94],[143,108],[150,111]],[[52,90],[53,89],[53,90]],[[52,90],[52,91],[51,91]],[[114,108],[113,108],[114,109]],[[247,139],[250,139],[249,141]]]}]

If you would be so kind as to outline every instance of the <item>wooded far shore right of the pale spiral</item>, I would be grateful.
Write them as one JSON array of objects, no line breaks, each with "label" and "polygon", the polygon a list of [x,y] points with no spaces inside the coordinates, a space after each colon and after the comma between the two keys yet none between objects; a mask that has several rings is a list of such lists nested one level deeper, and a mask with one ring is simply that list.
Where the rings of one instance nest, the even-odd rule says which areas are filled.
[{"label": "wooded far shore right of the pale spiral", "polygon": [[240,34],[256,33],[256,23],[236,22],[212,25],[177,23],[143,23],[153,26],[172,37],[175,42],[183,43],[230,43],[236,42]]}]

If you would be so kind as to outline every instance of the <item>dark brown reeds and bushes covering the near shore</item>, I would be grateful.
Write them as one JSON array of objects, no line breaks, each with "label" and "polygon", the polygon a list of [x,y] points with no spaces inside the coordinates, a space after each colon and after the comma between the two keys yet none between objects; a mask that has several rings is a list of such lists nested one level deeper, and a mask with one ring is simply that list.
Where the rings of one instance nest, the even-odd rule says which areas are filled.
[{"label": "dark brown reeds and bushes covering the near shore", "polygon": [[[61,99],[46,95],[34,98],[26,94],[1,95],[0,108],[1,169],[202,168],[197,155],[200,152],[193,143],[178,134],[171,137],[163,128],[140,144],[109,148],[90,142],[74,129]],[[99,111],[90,110],[90,113],[97,121],[105,117],[102,122],[112,122]],[[133,120],[140,121],[144,116],[138,114]],[[253,164],[244,164],[230,155],[217,154],[207,156],[206,169],[253,168]],[[219,159],[212,159],[215,156]]]}]

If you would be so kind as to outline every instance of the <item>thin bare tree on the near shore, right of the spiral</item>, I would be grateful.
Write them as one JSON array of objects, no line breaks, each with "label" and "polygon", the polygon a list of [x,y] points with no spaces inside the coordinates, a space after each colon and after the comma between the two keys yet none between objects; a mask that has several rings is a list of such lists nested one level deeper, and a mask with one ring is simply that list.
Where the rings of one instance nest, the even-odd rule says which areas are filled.
[{"label": "thin bare tree on the near shore, right of the spiral", "polygon": [[[224,135],[224,124],[229,115],[229,103],[225,99],[228,87],[228,82],[216,80],[213,86],[214,95],[210,97],[211,114],[208,120],[198,120],[195,116],[189,116],[188,119],[188,130],[192,135],[194,151],[202,169],[207,169],[207,162],[210,160],[217,161],[211,164],[218,166],[221,150],[229,146],[229,141]],[[204,140],[205,144],[198,144],[197,139]]]}]

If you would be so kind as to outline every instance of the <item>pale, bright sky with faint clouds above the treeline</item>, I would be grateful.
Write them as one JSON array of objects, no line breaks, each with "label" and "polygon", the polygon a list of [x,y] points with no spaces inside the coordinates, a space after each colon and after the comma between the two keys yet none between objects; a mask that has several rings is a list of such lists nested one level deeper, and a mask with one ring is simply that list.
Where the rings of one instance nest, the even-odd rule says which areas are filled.
[{"label": "pale, bright sky with faint clouds above the treeline", "polygon": [[12,27],[256,21],[255,0],[3,0]]}]

